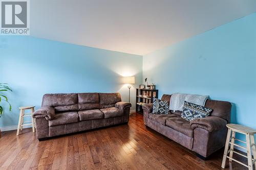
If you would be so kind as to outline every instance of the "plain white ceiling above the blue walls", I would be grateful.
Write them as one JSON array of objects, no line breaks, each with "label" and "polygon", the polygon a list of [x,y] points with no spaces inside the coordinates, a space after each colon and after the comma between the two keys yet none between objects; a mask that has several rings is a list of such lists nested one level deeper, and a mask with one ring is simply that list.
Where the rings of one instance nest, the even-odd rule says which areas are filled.
[{"label": "plain white ceiling above the blue walls", "polygon": [[31,35],[145,55],[256,12],[256,0],[31,0]]}]

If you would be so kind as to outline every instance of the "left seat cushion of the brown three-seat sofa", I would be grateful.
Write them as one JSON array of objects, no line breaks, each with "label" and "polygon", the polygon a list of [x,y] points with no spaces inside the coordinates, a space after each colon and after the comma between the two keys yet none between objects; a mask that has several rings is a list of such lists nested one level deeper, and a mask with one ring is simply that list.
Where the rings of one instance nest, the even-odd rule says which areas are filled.
[{"label": "left seat cushion of the brown three-seat sofa", "polygon": [[78,122],[77,112],[63,112],[55,114],[52,120],[49,120],[49,126],[65,125]]}]

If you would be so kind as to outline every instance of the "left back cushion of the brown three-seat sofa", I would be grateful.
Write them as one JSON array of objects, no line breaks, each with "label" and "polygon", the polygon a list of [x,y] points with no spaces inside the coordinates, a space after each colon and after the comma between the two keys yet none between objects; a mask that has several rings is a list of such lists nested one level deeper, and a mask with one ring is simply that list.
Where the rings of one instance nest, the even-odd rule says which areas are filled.
[{"label": "left back cushion of the brown three-seat sofa", "polygon": [[42,97],[42,106],[53,107],[56,112],[77,111],[77,93],[45,94]]}]

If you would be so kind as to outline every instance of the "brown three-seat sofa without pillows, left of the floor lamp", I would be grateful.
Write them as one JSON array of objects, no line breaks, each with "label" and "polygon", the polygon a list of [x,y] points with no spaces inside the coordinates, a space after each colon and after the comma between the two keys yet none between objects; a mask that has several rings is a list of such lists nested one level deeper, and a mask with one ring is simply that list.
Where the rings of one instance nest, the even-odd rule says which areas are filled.
[{"label": "brown three-seat sofa without pillows, left of the floor lamp", "polygon": [[130,107],[119,93],[45,94],[33,113],[39,140],[129,121]]}]

